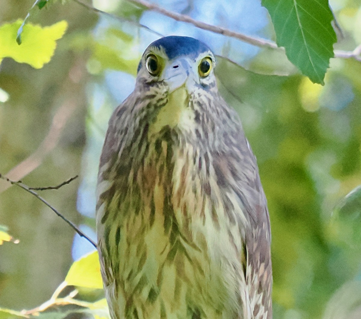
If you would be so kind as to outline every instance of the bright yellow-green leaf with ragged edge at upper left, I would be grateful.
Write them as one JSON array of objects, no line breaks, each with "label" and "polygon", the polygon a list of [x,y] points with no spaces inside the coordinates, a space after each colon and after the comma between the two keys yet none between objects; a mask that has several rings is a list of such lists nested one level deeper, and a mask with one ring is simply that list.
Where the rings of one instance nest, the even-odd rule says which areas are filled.
[{"label": "bright yellow-green leaf with ragged edge at upper left", "polygon": [[56,40],[60,39],[68,26],[65,20],[48,27],[27,23],[23,30],[23,44],[17,45],[16,32],[21,20],[0,26],[0,62],[4,57],[40,69],[54,54]]}]

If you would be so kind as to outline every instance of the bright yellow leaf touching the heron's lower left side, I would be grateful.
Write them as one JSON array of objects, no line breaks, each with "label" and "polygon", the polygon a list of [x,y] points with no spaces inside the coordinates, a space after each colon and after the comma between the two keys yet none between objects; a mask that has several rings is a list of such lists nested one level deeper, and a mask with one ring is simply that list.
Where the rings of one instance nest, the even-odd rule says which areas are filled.
[{"label": "bright yellow leaf touching the heron's lower left side", "polygon": [[86,254],[75,261],[71,265],[65,281],[68,285],[103,289],[98,252]]}]

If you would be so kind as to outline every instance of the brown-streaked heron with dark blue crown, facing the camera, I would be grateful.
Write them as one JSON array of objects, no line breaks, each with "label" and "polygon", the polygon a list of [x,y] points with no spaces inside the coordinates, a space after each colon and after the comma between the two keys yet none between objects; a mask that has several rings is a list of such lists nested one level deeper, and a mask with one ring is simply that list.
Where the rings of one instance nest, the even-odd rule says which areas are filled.
[{"label": "brown-streaked heron with dark blue crown, facing the camera", "polygon": [[110,118],[96,224],[113,319],[272,318],[266,198],[215,65],[196,39],[153,42]]}]

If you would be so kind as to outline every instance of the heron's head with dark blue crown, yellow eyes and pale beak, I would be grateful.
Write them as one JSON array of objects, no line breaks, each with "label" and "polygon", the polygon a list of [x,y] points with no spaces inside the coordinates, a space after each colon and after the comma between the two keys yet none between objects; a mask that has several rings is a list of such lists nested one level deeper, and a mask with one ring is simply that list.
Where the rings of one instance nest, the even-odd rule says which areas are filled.
[{"label": "heron's head with dark blue crown, yellow eyes and pale beak", "polygon": [[[187,36],[166,36],[151,43],[138,66],[138,79],[162,83],[169,93],[185,86],[188,93],[216,86],[212,51]],[[144,82],[143,82],[144,83]]]}]

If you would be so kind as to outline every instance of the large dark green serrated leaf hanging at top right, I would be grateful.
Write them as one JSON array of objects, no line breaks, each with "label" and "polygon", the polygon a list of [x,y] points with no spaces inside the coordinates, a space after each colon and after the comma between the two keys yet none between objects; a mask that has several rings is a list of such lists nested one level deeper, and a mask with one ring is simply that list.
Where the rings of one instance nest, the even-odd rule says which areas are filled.
[{"label": "large dark green serrated leaf hanging at top right", "polygon": [[277,44],[313,83],[324,84],[336,34],[327,0],[262,0],[268,10]]}]

